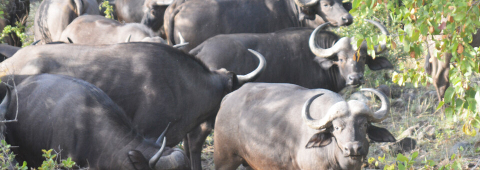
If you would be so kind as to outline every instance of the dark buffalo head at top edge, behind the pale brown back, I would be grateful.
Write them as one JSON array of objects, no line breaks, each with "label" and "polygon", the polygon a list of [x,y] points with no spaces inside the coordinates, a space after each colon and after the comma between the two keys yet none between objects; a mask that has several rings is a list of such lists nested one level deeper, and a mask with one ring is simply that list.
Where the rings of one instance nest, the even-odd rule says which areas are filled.
[{"label": "dark buffalo head at top edge, behind the pale brown back", "polygon": [[141,23],[158,31],[163,26],[163,14],[173,0],[145,0],[143,3],[143,17]]}]

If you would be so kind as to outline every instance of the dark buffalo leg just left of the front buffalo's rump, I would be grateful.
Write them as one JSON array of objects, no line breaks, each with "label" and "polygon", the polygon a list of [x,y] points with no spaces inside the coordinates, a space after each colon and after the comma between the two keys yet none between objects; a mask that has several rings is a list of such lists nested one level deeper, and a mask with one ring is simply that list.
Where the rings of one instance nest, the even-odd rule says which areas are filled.
[{"label": "dark buffalo leg just left of the front buffalo's rump", "polygon": [[213,130],[214,121],[215,117],[208,118],[187,134],[188,151],[185,150],[185,152],[189,153],[192,170],[201,170],[201,150],[203,149],[203,143],[206,137],[208,137]]}]

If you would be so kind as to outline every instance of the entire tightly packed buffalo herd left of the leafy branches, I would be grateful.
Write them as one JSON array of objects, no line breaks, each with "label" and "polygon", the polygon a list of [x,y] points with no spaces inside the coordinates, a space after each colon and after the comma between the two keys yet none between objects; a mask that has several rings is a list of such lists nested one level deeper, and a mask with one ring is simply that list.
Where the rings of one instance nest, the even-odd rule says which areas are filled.
[{"label": "entire tightly packed buffalo herd left of the leafy branches", "polygon": [[[11,1],[5,24],[29,11]],[[365,65],[393,68],[385,44],[373,58],[325,30],[353,22],[349,2],[107,0],[109,19],[101,1],[42,0],[35,42],[0,44],[0,137],[16,161],[35,168],[53,149],[78,168],[201,170],[215,128],[217,170],[360,170],[370,141],[395,142],[372,124],[385,94],[360,89],[376,111],[337,94],[365,83]]]}]

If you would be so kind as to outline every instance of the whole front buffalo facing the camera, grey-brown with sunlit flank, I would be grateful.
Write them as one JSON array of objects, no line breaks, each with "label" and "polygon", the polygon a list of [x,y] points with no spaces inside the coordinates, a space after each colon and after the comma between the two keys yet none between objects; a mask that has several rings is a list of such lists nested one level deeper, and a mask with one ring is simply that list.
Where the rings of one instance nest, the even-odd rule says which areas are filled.
[{"label": "whole front buffalo facing the camera, grey-brown with sunlit flank", "polygon": [[380,98],[378,111],[325,89],[245,84],[221,102],[215,169],[247,164],[254,170],[360,170],[368,153],[367,134],[371,141],[395,141],[388,130],[371,124],[388,116],[387,97],[375,89],[361,90]]}]

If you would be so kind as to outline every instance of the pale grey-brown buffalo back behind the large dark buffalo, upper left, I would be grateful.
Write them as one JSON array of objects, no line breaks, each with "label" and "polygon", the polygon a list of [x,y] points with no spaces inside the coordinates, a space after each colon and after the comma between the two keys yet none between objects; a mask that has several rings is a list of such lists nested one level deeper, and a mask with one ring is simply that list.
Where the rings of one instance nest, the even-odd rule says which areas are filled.
[{"label": "pale grey-brown buffalo back behind the large dark buffalo, upper left", "polygon": [[[125,41],[154,41],[155,33],[139,23],[120,23],[101,15],[82,15],[75,18],[60,35],[59,40],[76,44],[114,44]],[[166,43],[160,37],[155,42]]]}]

